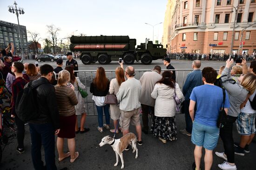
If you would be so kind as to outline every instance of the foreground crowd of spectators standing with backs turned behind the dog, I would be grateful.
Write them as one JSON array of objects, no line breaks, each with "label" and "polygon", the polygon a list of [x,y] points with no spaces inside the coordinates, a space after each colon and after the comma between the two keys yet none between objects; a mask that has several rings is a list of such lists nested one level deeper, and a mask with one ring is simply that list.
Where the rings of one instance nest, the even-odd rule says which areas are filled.
[{"label": "foreground crowd of spectators standing with backs turned behind the dog", "polygon": [[[225,162],[218,166],[222,170],[236,170],[234,155],[248,153],[249,145],[256,133],[256,61],[251,62],[249,68],[245,59],[231,68],[233,62],[233,59],[227,59],[226,65],[220,68],[218,75],[211,67],[201,70],[201,61],[194,60],[193,71],[187,76],[182,90],[175,82],[175,70],[162,72],[161,66],[155,66],[153,71],[145,72],[137,80],[134,67],[127,66],[124,69],[120,63],[115,69],[115,78],[111,81],[108,80],[105,69],[98,67],[90,85],[90,93],[98,113],[97,130],[101,133],[109,130],[112,133],[121,132],[122,135],[126,135],[130,132],[129,127],[132,124],[135,126],[138,145],[143,145],[141,132],[152,134],[162,143],[177,140],[176,98],[184,98],[186,127],[180,132],[191,136],[191,141],[195,144],[195,170],[200,170],[202,148],[205,149],[205,170],[211,169],[213,150],[219,136],[224,151],[215,154]],[[78,63],[73,59],[72,53],[68,52],[65,69],[62,69],[62,59],[58,59],[56,64],[55,69],[49,64],[43,64],[38,68],[29,63],[12,63],[8,57],[5,62],[0,60],[0,72],[6,82],[6,92],[12,95],[12,117],[17,125],[16,151],[19,153],[25,151],[26,122],[20,120],[15,113],[15,101],[28,82],[32,82],[32,86],[35,87],[35,99],[40,114],[28,124],[32,161],[36,170],[57,169],[54,134],[57,135],[58,160],[70,157],[70,163],[74,163],[79,157],[75,135],[90,130],[85,127],[87,111],[84,98],[80,94],[80,89],[85,90],[86,87],[74,72],[78,70]],[[163,64],[166,69],[175,69],[169,57],[164,58]],[[217,78],[222,79],[224,92],[222,88],[214,85]],[[236,83],[231,83],[230,79]],[[107,94],[115,94],[118,104],[106,104]],[[218,128],[217,120],[222,108],[228,118],[226,124]],[[148,124],[149,114],[152,116],[151,125]],[[77,119],[79,115],[81,122]],[[111,128],[110,118],[113,120],[114,129]],[[233,140],[234,123],[241,135],[240,143],[234,143]],[[68,152],[63,151],[64,139],[67,139]],[[41,160],[41,145],[44,146],[45,165]],[[129,150],[129,146],[125,150]]]}]

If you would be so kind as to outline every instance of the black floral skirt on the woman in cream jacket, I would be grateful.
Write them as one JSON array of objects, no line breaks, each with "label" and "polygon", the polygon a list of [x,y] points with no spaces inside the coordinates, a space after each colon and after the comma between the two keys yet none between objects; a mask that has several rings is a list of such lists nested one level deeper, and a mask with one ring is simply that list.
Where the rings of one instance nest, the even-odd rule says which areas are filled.
[{"label": "black floral skirt on the woman in cream jacket", "polygon": [[174,117],[154,116],[149,133],[153,133],[153,137],[160,137],[165,140],[176,140],[177,127],[176,127],[175,116]]}]

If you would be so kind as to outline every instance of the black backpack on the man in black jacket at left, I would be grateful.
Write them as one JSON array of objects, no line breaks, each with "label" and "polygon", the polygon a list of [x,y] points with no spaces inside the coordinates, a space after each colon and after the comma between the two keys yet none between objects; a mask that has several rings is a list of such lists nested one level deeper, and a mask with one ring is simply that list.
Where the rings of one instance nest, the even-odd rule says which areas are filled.
[{"label": "black backpack on the man in black jacket at left", "polygon": [[37,119],[40,115],[35,93],[35,88],[39,85],[32,86],[32,82],[29,82],[17,95],[15,112],[20,120],[24,122]]}]

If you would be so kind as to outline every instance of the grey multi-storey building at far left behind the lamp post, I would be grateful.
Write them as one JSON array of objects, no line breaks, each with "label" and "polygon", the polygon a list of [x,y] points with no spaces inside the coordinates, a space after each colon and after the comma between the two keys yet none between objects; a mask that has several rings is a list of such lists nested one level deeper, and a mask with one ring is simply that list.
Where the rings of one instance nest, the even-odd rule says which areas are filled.
[{"label": "grey multi-storey building at far left behind the lamp post", "polygon": [[0,49],[5,49],[9,43],[13,43],[15,53],[20,53],[23,48],[23,52],[26,54],[28,52],[26,26],[20,25],[20,33],[22,47],[20,47],[18,25],[0,20]]}]

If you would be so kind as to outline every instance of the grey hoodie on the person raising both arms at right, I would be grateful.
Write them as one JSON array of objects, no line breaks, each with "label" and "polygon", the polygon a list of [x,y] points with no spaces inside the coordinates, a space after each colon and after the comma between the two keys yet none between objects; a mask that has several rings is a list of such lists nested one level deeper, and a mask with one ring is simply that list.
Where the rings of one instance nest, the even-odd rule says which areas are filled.
[{"label": "grey hoodie on the person raising both arms at right", "polygon": [[[222,76],[227,75],[225,77],[222,77],[222,81],[232,79],[230,76],[230,68],[225,67],[222,71]],[[230,82],[224,82],[223,87],[227,90],[229,94],[229,111],[228,115],[237,117],[240,113],[240,105],[245,101],[247,94],[249,93],[243,86],[240,84],[232,84]]]}]

